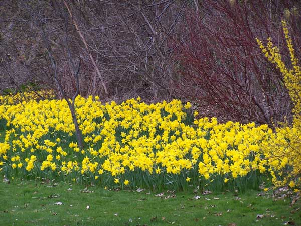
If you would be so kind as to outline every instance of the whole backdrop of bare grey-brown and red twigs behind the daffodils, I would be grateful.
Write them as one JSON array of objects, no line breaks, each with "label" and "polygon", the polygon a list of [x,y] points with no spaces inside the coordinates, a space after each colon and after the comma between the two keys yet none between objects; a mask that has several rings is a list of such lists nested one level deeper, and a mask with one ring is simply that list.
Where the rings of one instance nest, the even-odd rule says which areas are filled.
[{"label": "whole backdrop of bare grey-brown and red twigs behind the daffodils", "polygon": [[280,21],[289,22],[299,46],[300,6],[293,0],[2,1],[0,89],[35,84],[58,90],[60,98],[118,102],[183,98],[227,119],[290,122],[283,78],[255,39],[277,40],[288,56]]}]

